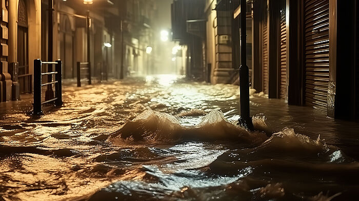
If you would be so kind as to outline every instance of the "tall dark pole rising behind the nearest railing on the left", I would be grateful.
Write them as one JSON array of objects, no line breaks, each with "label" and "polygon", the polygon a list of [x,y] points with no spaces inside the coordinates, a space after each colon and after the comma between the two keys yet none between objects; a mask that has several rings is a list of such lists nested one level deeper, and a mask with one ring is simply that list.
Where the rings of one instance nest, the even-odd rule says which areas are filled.
[{"label": "tall dark pole rising behind the nearest railing on the left", "polygon": [[[49,21],[48,21],[48,61],[52,61],[53,59],[53,0],[49,0]],[[48,72],[52,72],[52,65],[48,65]],[[52,75],[48,76],[48,82],[52,81]],[[47,86],[47,90],[45,93],[45,100],[53,99],[54,93],[52,91],[51,84]]]}]

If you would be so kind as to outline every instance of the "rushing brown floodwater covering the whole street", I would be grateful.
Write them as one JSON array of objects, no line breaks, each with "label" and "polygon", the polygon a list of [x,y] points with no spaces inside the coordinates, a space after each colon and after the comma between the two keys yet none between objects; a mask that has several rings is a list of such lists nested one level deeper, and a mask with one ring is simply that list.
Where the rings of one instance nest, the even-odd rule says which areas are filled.
[{"label": "rushing brown floodwater covering the whole street", "polygon": [[0,200],[357,200],[358,124],[253,93],[255,132],[237,86],[170,75],[1,103]]}]

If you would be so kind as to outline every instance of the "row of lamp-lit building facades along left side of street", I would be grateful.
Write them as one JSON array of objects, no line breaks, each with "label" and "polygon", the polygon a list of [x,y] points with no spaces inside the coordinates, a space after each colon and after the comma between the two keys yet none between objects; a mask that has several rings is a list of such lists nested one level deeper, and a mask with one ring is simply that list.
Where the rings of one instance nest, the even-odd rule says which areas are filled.
[{"label": "row of lamp-lit building facades along left side of street", "polygon": [[[48,2],[46,0],[24,1],[27,5],[28,21],[28,26],[26,26],[28,30],[28,48],[26,49],[29,65],[28,74],[30,77],[32,76],[29,86],[32,86],[33,60],[37,58],[44,61],[48,60]],[[21,84],[19,84],[15,74],[12,77],[13,73],[9,72],[15,69],[18,61],[18,2],[19,0],[1,0],[0,101],[19,99],[19,86]],[[93,5],[95,4],[97,2],[94,2]],[[109,4],[98,2],[98,5],[101,4],[105,7],[111,7]],[[152,0],[115,2],[106,16],[103,15],[106,8],[102,8],[102,6],[89,7],[91,18],[89,61],[92,66],[92,75],[98,79],[107,78],[108,75],[119,77],[122,63],[121,54],[124,54],[125,75],[128,72],[128,66],[131,66],[132,70],[135,68],[137,74],[144,74],[146,65],[154,66],[156,59],[153,54],[145,55],[147,46],[154,48],[156,45],[156,40],[153,39],[154,29],[151,24],[153,18],[160,18],[159,15],[157,16],[156,2]],[[64,78],[76,77],[76,62],[88,60],[86,10],[83,8],[82,1],[54,1],[53,58],[50,60],[63,60]],[[119,12],[120,10],[123,12]],[[125,48],[122,52],[122,33],[118,27],[120,26],[119,22],[125,19],[128,24],[124,31],[126,32],[124,34],[126,35],[124,37]],[[146,36],[141,36],[143,33],[146,33]],[[133,41],[137,41],[137,43],[133,45]],[[110,43],[111,47],[105,47],[104,42]],[[14,72],[18,73],[18,71]],[[32,89],[29,90],[30,93],[31,91]]]}]

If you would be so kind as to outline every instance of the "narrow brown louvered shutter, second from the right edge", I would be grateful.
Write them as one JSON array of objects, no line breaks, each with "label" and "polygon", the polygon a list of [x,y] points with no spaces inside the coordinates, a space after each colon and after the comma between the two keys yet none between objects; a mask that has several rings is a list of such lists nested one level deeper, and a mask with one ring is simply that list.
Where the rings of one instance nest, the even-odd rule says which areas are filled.
[{"label": "narrow brown louvered shutter, second from the right edge", "polygon": [[287,26],[286,26],[286,12],[281,12],[281,43],[280,43],[280,62],[279,62],[279,92],[280,97],[287,98]]}]

